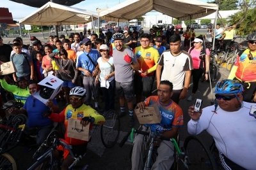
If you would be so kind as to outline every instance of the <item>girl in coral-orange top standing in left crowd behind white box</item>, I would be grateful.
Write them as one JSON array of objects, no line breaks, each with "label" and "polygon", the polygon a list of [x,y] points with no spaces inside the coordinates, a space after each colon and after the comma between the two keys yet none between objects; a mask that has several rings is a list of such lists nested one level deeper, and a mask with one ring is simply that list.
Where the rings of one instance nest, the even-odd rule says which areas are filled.
[{"label": "girl in coral-orange top standing in left crowd behind white box", "polygon": [[42,69],[44,69],[44,72],[52,74],[54,72],[52,71],[52,62],[51,62],[51,58],[49,57],[49,54],[52,53],[52,46],[45,45],[44,51],[45,51],[45,56],[43,57],[43,61],[42,61]]}]

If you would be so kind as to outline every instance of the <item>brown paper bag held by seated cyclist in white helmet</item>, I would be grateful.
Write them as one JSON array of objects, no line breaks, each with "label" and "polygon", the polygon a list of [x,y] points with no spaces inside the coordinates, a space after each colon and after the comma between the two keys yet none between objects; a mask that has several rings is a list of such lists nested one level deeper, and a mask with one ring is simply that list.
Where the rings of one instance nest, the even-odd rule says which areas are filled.
[{"label": "brown paper bag held by seated cyclist in white helmet", "polygon": [[67,136],[69,138],[80,139],[83,141],[89,141],[92,133],[89,129],[90,125],[86,125],[84,127],[80,124],[80,120],[74,118],[68,118],[68,129],[67,129]]}]

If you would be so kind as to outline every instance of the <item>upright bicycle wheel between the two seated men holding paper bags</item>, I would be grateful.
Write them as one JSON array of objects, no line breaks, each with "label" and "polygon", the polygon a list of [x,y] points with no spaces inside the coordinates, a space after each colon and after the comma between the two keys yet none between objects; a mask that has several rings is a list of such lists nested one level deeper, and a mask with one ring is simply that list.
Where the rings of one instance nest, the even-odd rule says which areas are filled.
[{"label": "upright bicycle wheel between the two seated men holding paper bags", "polygon": [[108,111],[105,115],[105,124],[101,125],[100,138],[106,148],[111,148],[116,144],[120,133],[120,118],[114,110]]}]

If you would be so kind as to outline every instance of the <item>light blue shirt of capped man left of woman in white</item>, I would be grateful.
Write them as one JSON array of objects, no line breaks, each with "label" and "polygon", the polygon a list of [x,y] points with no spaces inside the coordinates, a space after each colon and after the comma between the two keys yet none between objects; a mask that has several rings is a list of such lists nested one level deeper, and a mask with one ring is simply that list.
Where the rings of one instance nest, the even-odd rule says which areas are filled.
[{"label": "light blue shirt of capped man left of woman in white", "polygon": [[[97,66],[97,60],[99,59],[100,55],[98,50],[92,49],[89,53],[85,52],[79,55],[77,60],[76,67],[82,67],[83,69],[87,69],[92,74],[95,66],[92,64],[91,60],[88,58],[87,54],[91,57],[92,61],[94,62],[95,66]],[[84,72],[82,71],[84,74]]]}]

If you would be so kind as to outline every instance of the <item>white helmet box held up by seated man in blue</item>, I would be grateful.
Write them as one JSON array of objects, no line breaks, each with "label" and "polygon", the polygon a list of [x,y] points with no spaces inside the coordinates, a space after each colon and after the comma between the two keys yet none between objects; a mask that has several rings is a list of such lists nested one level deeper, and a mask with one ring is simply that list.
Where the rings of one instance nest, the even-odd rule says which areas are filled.
[{"label": "white helmet box held up by seated man in blue", "polygon": [[[56,76],[49,75],[44,80],[40,81],[38,85],[40,85],[40,89],[37,90],[33,96],[42,101],[42,103],[47,103],[48,99],[53,99],[61,90],[63,81]],[[42,96],[42,90],[47,90],[47,97]]]}]

